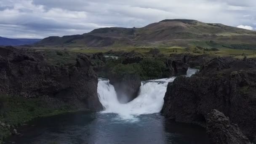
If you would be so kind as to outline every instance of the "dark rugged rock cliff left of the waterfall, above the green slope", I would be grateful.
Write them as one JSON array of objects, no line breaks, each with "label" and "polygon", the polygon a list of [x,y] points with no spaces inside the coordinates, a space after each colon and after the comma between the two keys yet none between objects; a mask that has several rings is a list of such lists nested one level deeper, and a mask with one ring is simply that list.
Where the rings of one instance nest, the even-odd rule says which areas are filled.
[{"label": "dark rugged rock cliff left of the waterfall, above the green slope", "polygon": [[37,52],[0,48],[0,94],[40,97],[52,107],[62,104],[78,109],[99,110],[98,77],[88,56],[77,56],[77,64],[51,65]]}]

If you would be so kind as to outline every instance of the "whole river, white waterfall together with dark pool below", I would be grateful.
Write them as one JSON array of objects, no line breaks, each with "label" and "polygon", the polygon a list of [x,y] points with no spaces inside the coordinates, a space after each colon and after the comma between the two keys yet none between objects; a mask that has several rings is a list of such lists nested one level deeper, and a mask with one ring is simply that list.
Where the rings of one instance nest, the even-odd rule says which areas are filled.
[{"label": "whole river, white waterfall together with dark pool below", "polygon": [[[187,76],[197,70],[188,69]],[[208,144],[204,128],[175,123],[160,115],[169,82],[175,77],[141,82],[139,96],[117,100],[109,80],[99,79],[102,112],[76,112],[39,118],[19,130],[16,144]]]}]

